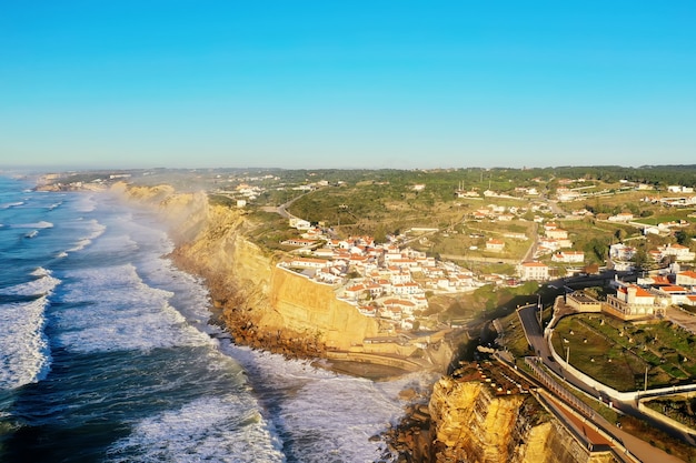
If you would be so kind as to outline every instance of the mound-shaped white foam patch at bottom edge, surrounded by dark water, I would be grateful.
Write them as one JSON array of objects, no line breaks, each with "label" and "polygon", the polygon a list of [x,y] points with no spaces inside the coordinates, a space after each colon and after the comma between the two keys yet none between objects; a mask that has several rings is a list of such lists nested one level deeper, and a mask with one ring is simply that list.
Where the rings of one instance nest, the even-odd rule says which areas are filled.
[{"label": "mound-shaped white foam patch at bottom edge, surrounded by dark water", "polygon": [[247,395],[193,401],[138,423],[107,462],[282,462],[256,403]]}]

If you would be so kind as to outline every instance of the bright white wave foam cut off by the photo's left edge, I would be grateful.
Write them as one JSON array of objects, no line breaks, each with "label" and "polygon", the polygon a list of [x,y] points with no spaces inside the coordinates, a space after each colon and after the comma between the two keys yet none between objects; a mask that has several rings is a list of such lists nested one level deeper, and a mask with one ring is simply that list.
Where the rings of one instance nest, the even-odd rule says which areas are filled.
[{"label": "bright white wave foam cut off by the photo's left edge", "polygon": [[0,305],[0,389],[40,381],[50,366],[43,334],[46,296]]}]

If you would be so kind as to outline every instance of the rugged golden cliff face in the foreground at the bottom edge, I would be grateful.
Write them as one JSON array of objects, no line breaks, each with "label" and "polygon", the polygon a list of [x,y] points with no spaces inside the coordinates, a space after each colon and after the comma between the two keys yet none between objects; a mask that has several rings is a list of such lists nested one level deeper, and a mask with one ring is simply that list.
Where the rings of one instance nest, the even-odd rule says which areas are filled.
[{"label": "rugged golden cliff face in the foreground at the bottom edge", "polygon": [[607,463],[590,454],[529,394],[497,395],[486,383],[443,378],[429,403],[432,462]]}]

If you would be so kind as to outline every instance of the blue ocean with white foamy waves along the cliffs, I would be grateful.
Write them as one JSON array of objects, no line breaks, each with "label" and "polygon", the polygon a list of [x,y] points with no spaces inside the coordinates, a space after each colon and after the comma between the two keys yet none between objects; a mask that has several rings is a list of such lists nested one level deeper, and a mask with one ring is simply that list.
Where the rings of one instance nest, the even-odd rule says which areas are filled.
[{"label": "blue ocean with white foamy waves along the cliffs", "polygon": [[0,461],[375,462],[388,382],[237,346],[162,224],[0,177]]}]

